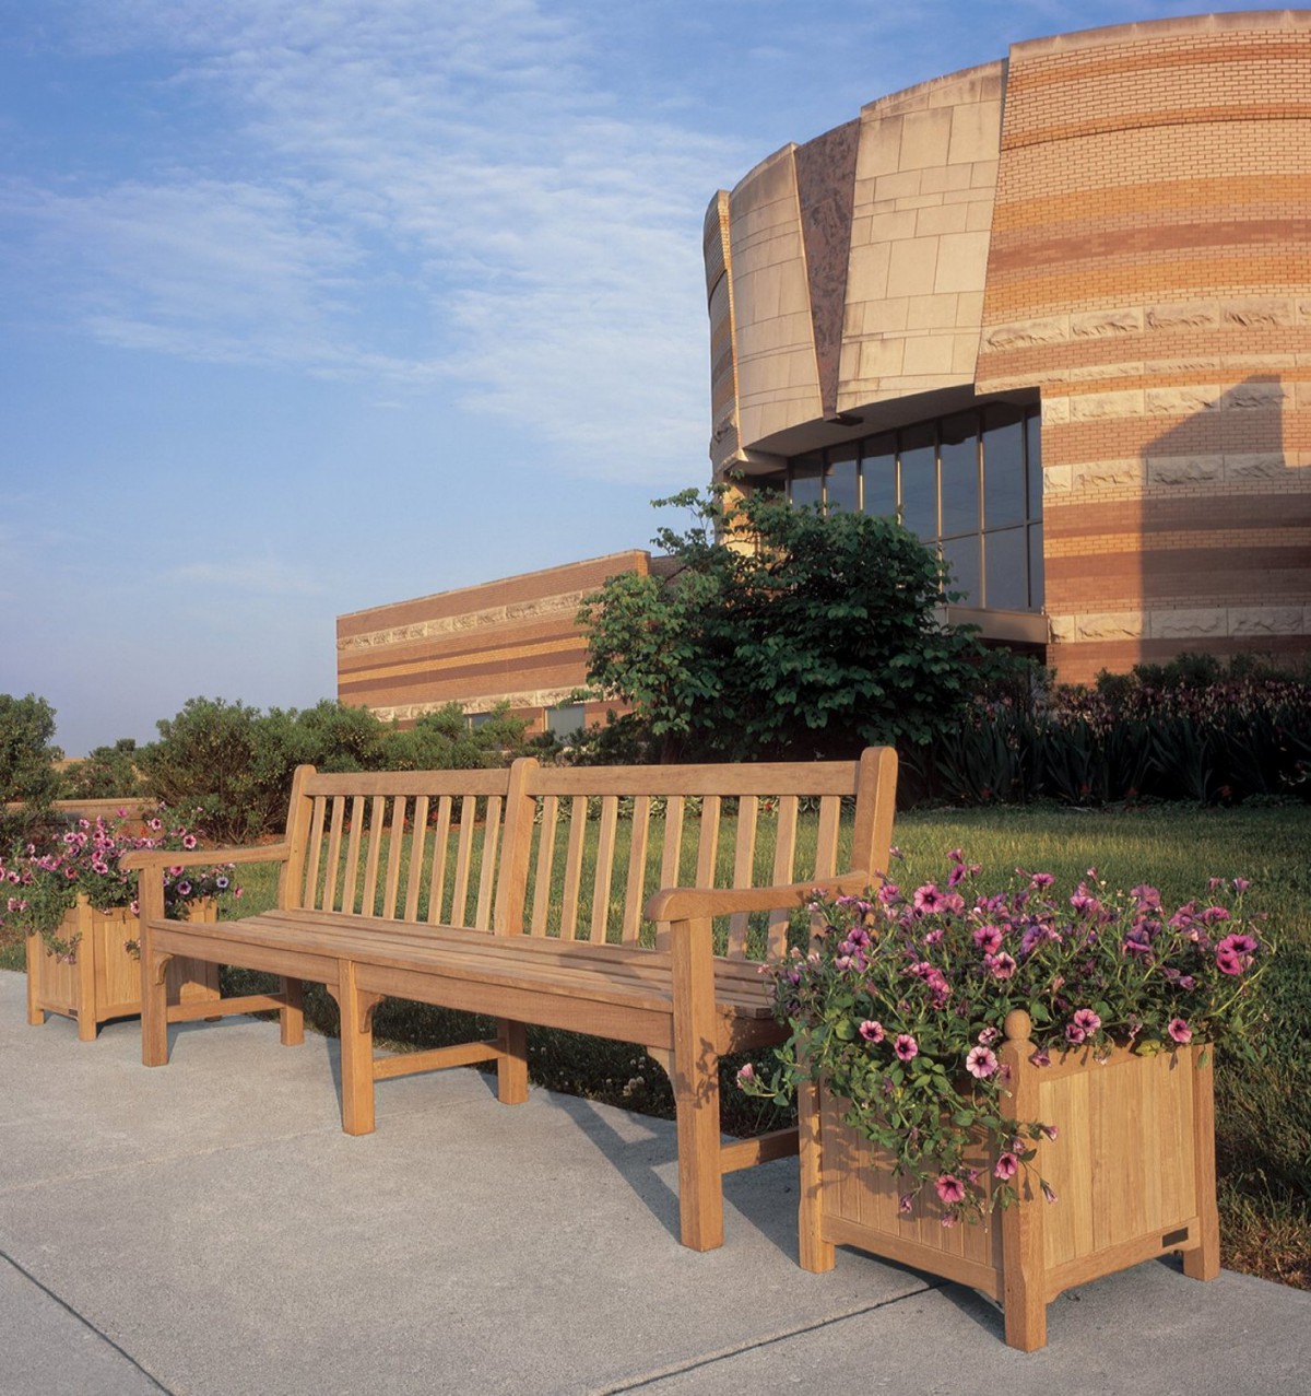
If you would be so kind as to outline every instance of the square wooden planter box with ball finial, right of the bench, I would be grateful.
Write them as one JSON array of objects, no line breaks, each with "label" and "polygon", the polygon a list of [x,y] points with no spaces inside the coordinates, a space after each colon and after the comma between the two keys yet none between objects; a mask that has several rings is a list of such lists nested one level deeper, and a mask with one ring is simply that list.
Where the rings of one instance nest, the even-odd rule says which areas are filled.
[{"label": "square wooden planter box with ball finial, right of the bench", "polygon": [[[926,1185],[912,1215],[901,1215],[902,1180],[842,1124],[845,1103],[810,1086],[801,1100],[802,1266],[831,1269],[834,1247],[854,1245],[969,1284],[1003,1304],[1006,1342],[1026,1353],[1046,1343],[1046,1307],[1071,1286],[1172,1252],[1183,1254],[1185,1275],[1215,1279],[1220,1240],[1209,1051],[1139,1057],[1116,1050],[1105,1064],[1082,1051],[1035,1067],[1028,1015],[1011,1013],[1006,1027],[1000,1055],[1015,1082],[1015,1118],[1057,1128],[1054,1141],[1039,1143],[1020,1203],[978,1226],[944,1227],[943,1206]],[[993,1161],[972,1160],[987,1177]],[[1039,1177],[1057,1201],[1042,1196]]]}]

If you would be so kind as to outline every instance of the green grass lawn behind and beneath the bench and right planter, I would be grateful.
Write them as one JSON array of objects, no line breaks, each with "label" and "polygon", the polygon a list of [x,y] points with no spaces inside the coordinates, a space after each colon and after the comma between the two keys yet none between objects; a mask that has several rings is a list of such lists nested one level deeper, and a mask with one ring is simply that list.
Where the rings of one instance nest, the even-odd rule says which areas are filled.
[{"label": "green grass lawn behind and beneath the bench and right planter", "polygon": [[[1212,875],[1251,878],[1248,903],[1269,913],[1282,953],[1264,981],[1272,1018],[1268,1062],[1261,1069],[1218,1062],[1223,1256],[1233,1269],[1311,1289],[1311,807],[909,811],[898,815],[894,836],[902,852],[894,877],[902,882],[939,875],[953,847],[996,881],[1024,867],[1068,882],[1096,867],[1113,886],[1146,881],[1176,902]],[[731,831],[724,846],[732,847]],[[272,870],[243,870],[241,879],[245,895],[226,914],[273,903]],[[0,928],[0,967],[22,969],[21,933]],[[227,991],[250,981],[225,974]],[[333,1001],[317,988],[307,998],[311,1022],[335,1032]],[[462,1015],[395,1000],[379,1008],[375,1026],[379,1041],[397,1050],[471,1036]],[[548,1030],[530,1032],[529,1048],[540,1085],[672,1114],[664,1074],[637,1048]],[[773,1121],[768,1107],[736,1090],[735,1069],[735,1062],[724,1064],[725,1122],[749,1134]]]}]

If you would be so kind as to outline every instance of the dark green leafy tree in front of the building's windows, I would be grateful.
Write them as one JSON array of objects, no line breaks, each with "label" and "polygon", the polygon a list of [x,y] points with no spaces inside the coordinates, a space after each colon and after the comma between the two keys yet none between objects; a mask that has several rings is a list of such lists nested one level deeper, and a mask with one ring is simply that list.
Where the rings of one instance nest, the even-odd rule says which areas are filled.
[{"label": "dark green leafy tree in front of the building's windows", "polygon": [[891,519],[722,487],[656,503],[693,517],[654,539],[668,574],[609,579],[580,621],[590,681],[649,723],[665,759],[922,745],[980,666],[1007,663],[946,625],[936,551]]}]

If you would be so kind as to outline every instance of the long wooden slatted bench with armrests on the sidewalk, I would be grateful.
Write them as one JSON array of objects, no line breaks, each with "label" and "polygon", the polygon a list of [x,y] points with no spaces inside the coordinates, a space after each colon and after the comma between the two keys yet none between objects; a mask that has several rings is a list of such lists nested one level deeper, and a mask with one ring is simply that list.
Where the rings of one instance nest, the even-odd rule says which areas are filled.
[{"label": "long wooden slatted bench with armrests on the sidewalk", "polygon": [[[816,885],[877,881],[895,775],[887,748],[810,764],[301,766],[280,843],[195,854],[278,861],[275,910],[167,920],[162,868],[191,856],[124,859],[141,872],[142,1060],[167,1061],[169,1023],[255,1009],[276,1008],[283,1043],[298,1043],[301,983],[324,984],[342,1016],[342,1124],[358,1135],[374,1128],[375,1083],[392,1076],[494,1061],[499,1099],[526,1100],[526,1025],[639,1044],[674,1085],[682,1241],[710,1249],[724,1238],[722,1174],[796,1152],[795,1129],[720,1135],[720,1057],[781,1037],[755,960],[785,953],[791,913]],[[173,956],[283,983],[170,1005]],[[497,1034],[375,1055],[372,1015],[388,995],[487,1015]]]}]

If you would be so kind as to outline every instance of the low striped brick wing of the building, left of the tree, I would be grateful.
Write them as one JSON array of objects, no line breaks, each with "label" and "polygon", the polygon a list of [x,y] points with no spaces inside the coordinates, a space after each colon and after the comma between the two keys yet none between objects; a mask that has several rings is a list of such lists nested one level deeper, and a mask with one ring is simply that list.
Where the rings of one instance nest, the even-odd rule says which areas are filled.
[{"label": "low striped brick wing of the building, left of the tree", "polygon": [[[587,680],[583,596],[650,567],[646,553],[614,553],[339,616],[338,698],[404,725],[449,702],[467,713],[508,702],[540,730]],[[589,720],[604,712],[587,705]]]}]

